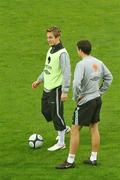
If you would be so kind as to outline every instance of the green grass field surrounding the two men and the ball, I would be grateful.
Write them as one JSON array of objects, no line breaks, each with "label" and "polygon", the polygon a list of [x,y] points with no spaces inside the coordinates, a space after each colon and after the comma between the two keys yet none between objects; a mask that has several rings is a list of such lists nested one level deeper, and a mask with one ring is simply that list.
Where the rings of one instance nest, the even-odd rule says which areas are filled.
[{"label": "green grass field surrounding the two men and the ball", "polygon": [[[89,39],[93,55],[111,70],[114,81],[103,97],[101,113],[101,165],[88,167],[89,130],[81,131],[76,168],[56,170],[67,149],[50,153],[56,132],[40,114],[42,89],[31,89],[44,67],[48,45],[46,28],[57,25],[67,48],[72,73],[78,61],[76,41]],[[120,179],[120,1],[119,0],[0,0],[0,180],[119,180]],[[65,104],[65,118],[71,125],[72,90]],[[39,133],[44,145],[28,147],[28,137]]]}]

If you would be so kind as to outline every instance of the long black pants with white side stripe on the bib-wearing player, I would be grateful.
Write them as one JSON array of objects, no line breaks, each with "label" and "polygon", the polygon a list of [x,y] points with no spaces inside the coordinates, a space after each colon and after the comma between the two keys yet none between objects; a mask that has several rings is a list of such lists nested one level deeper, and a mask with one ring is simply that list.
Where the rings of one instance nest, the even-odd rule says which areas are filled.
[{"label": "long black pants with white side stripe on the bib-wearing player", "polygon": [[61,86],[50,92],[43,91],[41,111],[48,122],[53,121],[57,131],[62,131],[66,128],[63,116],[63,102],[61,101]]}]

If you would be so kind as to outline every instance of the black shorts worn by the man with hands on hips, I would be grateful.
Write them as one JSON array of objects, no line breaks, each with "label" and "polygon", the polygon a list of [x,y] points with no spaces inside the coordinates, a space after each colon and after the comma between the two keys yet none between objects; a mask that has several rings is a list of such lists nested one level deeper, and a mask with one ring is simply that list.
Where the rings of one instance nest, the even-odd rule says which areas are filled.
[{"label": "black shorts worn by the man with hands on hips", "polygon": [[89,126],[100,121],[101,97],[88,101],[83,105],[78,105],[73,113],[74,125]]}]

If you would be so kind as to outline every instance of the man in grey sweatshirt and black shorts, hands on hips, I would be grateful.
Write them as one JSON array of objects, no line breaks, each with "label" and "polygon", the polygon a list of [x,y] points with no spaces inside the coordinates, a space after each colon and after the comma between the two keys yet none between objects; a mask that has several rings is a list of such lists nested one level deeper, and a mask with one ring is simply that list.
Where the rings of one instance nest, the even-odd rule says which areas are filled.
[{"label": "man in grey sweatshirt and black shorts, hands on hips", "polygon": [[[82,60],[77,63],[73,80],[73,99],[77,106],[73,114],[70,149],[67,160],[56,166],[57,169],[75,167],[75,154],[79,145],[79,130],[89,126],[91,132],[91,155],[83,161],[85,164],[97,165],[97,153],[100,146],[98,125],[100,121],[101,95],[112,82],[112,74],[105,64],[90,55],[91,43],[82,40],[77,43],[78,55]],[[102,83],[100,85],[100,81]]]}]

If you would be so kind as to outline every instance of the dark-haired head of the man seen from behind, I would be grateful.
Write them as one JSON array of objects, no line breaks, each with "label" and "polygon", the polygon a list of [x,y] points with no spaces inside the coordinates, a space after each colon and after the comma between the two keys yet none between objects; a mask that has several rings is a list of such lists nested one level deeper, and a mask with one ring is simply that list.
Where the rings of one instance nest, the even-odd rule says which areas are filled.
[{"label": "dark-haired head of the man seen from behind", "polygon": [[83,57],[91,53],[92,46],[88,40],[81,40],[77,42],[77,51],[78,54]]}]

